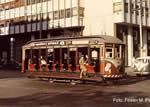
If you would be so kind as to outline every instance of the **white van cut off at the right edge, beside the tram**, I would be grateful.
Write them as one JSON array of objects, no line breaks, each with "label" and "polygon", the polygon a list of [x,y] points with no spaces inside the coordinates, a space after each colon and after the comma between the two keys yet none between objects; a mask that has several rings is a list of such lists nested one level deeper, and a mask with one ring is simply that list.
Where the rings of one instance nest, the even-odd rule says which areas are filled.
[{"label": "white van cut off at the right edge, beside the tram", "polygon": [[133,59],[133,67],[137,76],[150,74],[150,57],[138,57]]}]

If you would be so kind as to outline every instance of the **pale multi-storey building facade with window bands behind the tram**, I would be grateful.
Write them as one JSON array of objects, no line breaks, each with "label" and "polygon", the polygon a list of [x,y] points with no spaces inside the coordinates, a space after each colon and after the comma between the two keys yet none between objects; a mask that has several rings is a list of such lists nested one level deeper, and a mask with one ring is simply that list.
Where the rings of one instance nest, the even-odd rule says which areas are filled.
[{"label": "pale multi-storey building facade with window bands behind the tram", "polygon": [[0,57],[21,61],[21,46],[33,39],[111,35],[126,44],[130,66],[150,55],[149,8],[149,0],[0,0]]}]

